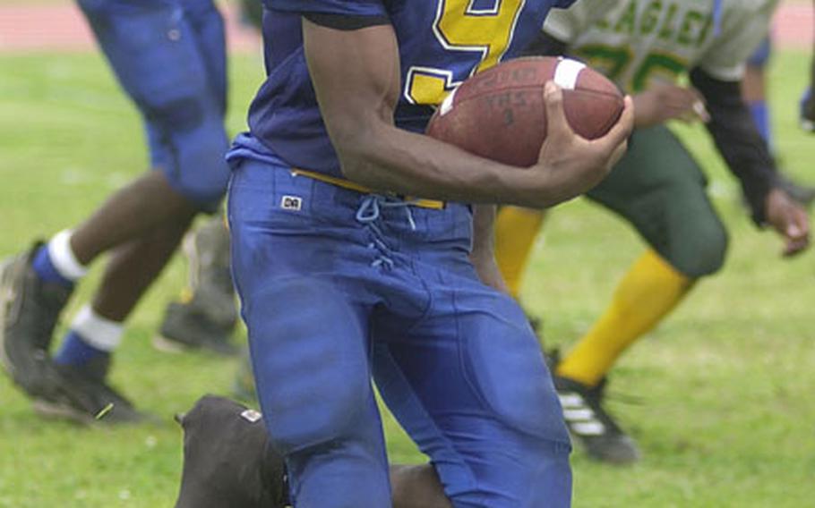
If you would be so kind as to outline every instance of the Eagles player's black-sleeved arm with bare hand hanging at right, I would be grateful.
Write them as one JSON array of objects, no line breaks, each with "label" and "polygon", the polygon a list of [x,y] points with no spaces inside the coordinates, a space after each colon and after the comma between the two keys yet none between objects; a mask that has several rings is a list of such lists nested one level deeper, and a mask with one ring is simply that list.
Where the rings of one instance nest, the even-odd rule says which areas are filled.
[{"label": "Eagles player's black-sleeved arm with bare hand hanging at right", "polygon": [[775,162],[761,139],[736,81],[722,81],[697,68],[691,82],[708,103],[708,131],[753,209],[753,218],[772,225],[785,241],[785,256],[809,246],[810,224],[806,210],[778,186]]}]

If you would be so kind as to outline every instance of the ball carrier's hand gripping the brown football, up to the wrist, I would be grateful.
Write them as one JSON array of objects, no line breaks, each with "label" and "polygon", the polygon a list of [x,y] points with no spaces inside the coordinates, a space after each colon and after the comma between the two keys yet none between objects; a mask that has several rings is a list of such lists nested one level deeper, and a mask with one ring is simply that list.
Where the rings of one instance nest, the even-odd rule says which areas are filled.
[{"label": "ball carrier's hand gripping the brown football, up to the wrist", "polygon": [[537,165],[532,166],[542,178],[536,179],[544,194],[557,189],[558,201],[572,199],[601,182],[628,147],[634,128],[634,106],[625,97],[620,119],[608,133],[596,140],[586,140],[572,131],[563,112],[563,91],[552,81],[544,89],[547,135]]}]

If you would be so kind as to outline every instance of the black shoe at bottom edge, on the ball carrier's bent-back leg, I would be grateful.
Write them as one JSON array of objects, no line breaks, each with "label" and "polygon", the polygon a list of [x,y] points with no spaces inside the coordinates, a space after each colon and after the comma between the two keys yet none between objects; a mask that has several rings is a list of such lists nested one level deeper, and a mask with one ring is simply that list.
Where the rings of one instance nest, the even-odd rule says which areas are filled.
[{"label": "black shoe at bottom edge, on the ball carrier's bent-back leg", "polygon": [[184,428],[184,470],[176,508],[283,508],[283,457],[269,443],[262,415],[206,395],[177,415]]}]

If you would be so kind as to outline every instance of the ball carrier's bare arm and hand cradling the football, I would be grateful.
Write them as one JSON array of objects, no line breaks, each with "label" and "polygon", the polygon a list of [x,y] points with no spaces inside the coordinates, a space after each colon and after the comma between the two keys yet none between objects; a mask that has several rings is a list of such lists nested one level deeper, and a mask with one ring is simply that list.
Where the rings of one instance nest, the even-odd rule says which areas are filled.
[{"label": "ball carrier's bare arm and hand cradling the football", "polygon": [[322,116],[343,172],[353,181],[425,198],[550,207],[591,189],[622,157],[633,127],[631,99],[604,138],[588,141],[571,131],[562,92],[553,85],[545,98],[549,136],[538,164],[529,168],[403,131],[393,123],[401,85],[392,27],[336,30],[303,22]]}]

